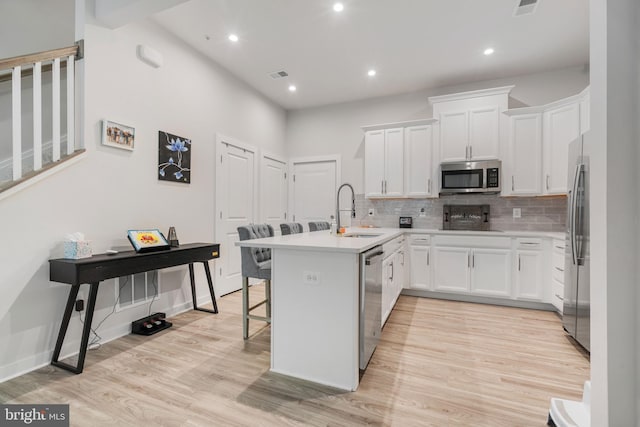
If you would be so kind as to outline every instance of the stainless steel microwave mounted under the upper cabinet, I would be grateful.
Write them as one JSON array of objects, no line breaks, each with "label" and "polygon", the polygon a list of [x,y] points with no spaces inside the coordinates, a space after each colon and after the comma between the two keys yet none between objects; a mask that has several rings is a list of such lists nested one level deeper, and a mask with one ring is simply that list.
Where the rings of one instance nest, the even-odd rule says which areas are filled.
[{"label": "stainless steel microwave mounted under the upper cabinet", "polygon": [[440,164],[440,194],[499,193],[500,160]]}]

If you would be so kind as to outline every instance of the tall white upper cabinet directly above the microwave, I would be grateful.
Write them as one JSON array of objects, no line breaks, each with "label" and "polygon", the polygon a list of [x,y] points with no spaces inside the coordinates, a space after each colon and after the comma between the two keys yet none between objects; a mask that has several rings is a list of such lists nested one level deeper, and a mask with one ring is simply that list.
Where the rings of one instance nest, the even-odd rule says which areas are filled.
[{"label": "tall white upper cabinet directly above the microwave", "polygon": [[440,162],[500,158],[501,113],[513,86],[433,96]]}]

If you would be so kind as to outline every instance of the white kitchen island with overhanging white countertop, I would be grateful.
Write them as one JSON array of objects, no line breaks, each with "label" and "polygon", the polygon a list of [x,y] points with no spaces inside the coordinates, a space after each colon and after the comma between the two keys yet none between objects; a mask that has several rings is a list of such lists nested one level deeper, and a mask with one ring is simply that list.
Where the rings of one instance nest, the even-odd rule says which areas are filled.
[{"label": "white kitchen island with overhanging white countertop", "polygon": [[[402,234],[354,229],[236,243],[271,248],[271,370],[344,390],[359,382],[359,255]],[[346,233],[349,234],[349,231]]]}]

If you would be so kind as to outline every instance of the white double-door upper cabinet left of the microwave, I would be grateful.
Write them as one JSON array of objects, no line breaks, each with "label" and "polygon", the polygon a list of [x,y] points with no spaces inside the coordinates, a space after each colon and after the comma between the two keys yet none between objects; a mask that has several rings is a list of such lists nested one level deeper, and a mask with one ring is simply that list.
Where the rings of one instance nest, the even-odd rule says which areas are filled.
[{"label": "white double-door upper cabinet left of the microwave", "polygon": [[433,119],[364,126],[365,196],[431,197]]}]

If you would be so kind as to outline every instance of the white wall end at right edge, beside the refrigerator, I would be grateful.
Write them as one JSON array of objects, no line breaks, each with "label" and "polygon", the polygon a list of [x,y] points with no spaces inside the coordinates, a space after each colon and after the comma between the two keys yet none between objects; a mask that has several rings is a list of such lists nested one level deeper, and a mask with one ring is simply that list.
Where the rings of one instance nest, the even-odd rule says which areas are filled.
[{"label": "white wall end at right edge, beside the refrigerator", "polygon": [[640,425],[639,9],[590,2],[593,426]]}]

